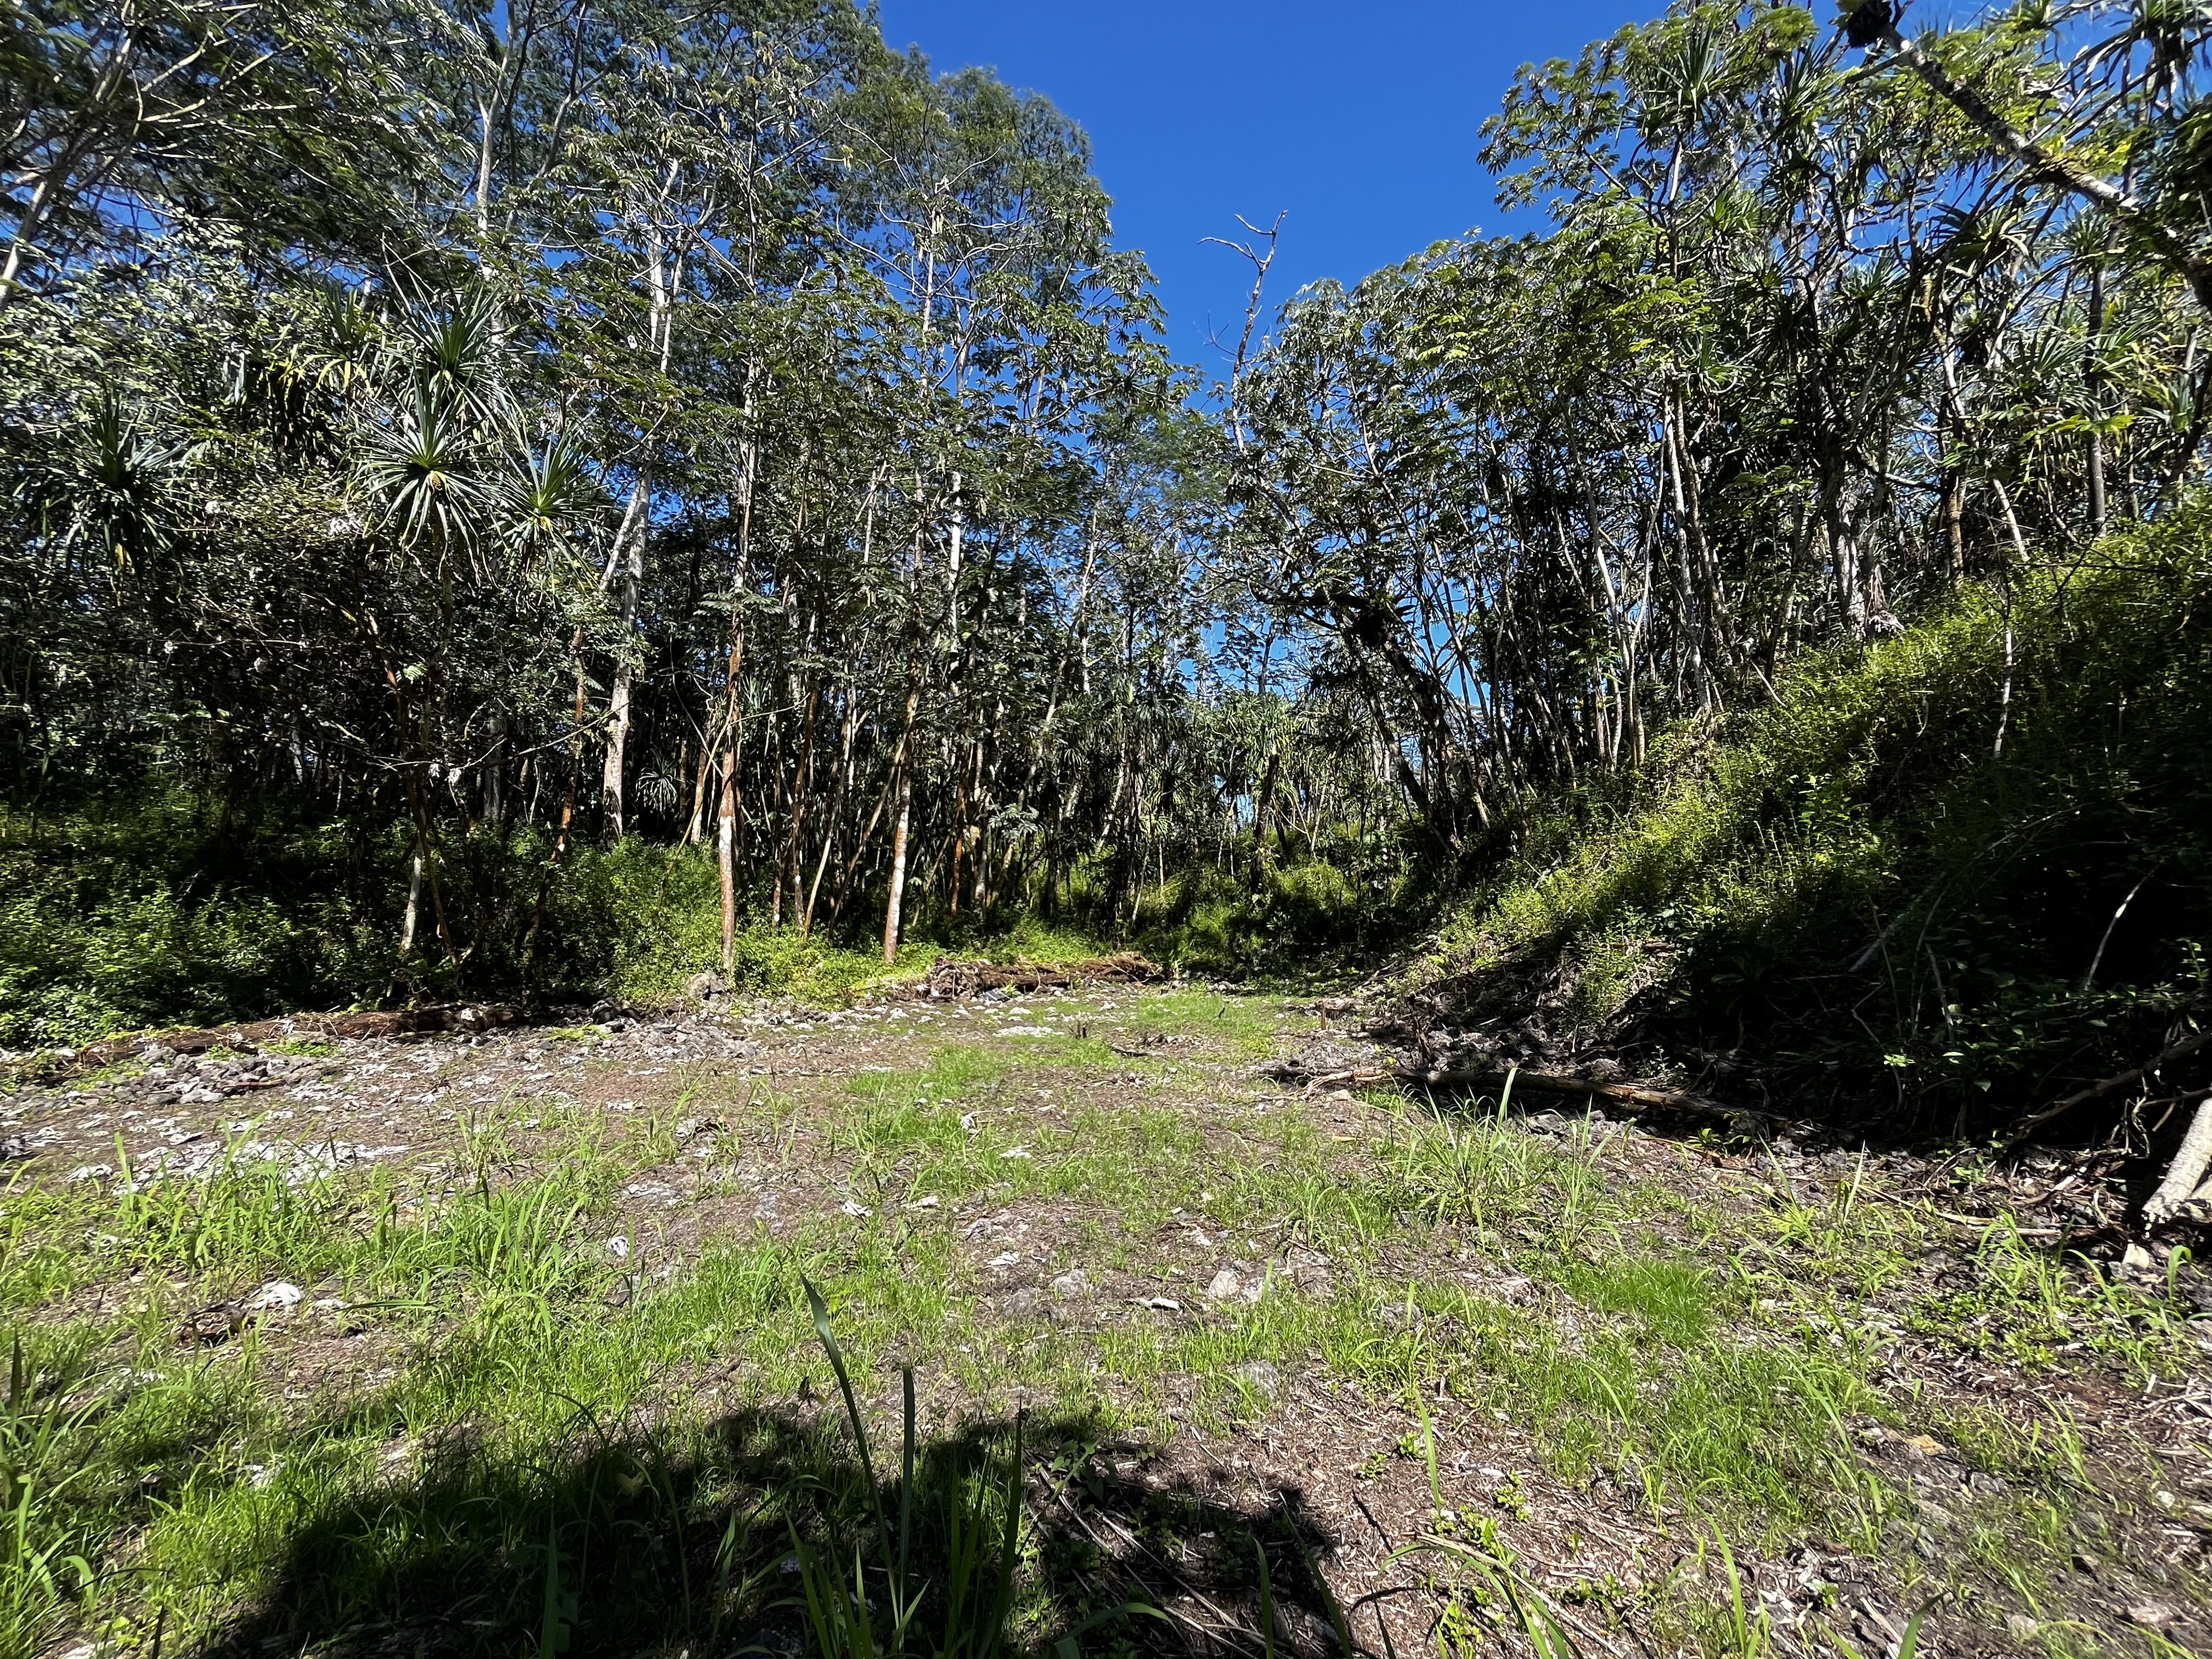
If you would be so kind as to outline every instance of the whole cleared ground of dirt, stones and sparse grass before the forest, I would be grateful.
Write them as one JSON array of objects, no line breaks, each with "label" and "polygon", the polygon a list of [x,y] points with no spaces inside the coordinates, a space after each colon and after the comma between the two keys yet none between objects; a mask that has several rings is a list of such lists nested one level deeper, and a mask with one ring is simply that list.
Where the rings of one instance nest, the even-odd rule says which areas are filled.
[{"label": "whole cleared ground of dirt, stones and sparse grass before the forest", "polygon": [[80,1473],[22,1535],[93,1568],[24,1628],[792,1648],[790,1540],[860,1513],[805,1274],[885,1478],[900,1363],[945,1469],[1022,1418],[1024,1639],[1146,1601],[1077,1646],[1259,1655],[1265,1562],[1316,1655],[1332,1604],[1376,1655],[1537,1606],[1588,1655],[2212,1650],[2212,1296],[2095,1261],[2108,1164],[1279,1082],[1363,1029],[1097,989],[24,1073],[11,1420]]}]

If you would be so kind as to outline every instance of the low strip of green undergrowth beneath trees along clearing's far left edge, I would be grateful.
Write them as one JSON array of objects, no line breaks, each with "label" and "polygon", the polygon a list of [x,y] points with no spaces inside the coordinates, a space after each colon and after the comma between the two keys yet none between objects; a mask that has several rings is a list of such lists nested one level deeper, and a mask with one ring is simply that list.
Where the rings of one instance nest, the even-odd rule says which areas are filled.
[{"label": "low strip of green undergrowth beneath trees along clearing's far left edge", "polygon": [[[577,998],[664,1000],[721,967],[721,896],[710,852],[644,838],[573,847],[544,876],[551,836],[478,832],[440,860],[451,967],[431,894],[400,951],[411,838],[232,812],[190,792],[86,801],[0,818],[0,1046],[82,1044],[175,1024],[299,1009],[383,1006],[524,987]],[[1004,907],[984,918],[911,918],[885,969],[880,911],[803,936],[748,902],[739,989],[841,998],[940,951],[1064,960],[1137,947],[1201,973],[1281,967],[1290,953],[1360,936],[1360,883],[1327,860],[1245,872],[1168,869],[1133,911],[1106,872],[1079,867],[1051,916]],[[544,916],[529,949],[538,889]]]}]

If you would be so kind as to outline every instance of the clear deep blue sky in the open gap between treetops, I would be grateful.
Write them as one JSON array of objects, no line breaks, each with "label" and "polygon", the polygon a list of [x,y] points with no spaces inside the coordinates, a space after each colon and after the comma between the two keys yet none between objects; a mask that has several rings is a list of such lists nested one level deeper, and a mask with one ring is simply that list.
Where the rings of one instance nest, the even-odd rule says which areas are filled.
[{"label": "clear deep blue sky in the open gap between treetops", "polygon": [[[1573,58],[1666,0],[883,0],[883,33],[931,66],[989,64],[1091,133],[1115,234],[1141,248],[1168,343],[1219,372],[1250,270],[1201,237],[1287,210],[1270,310],[1438,237],[1500,228],[1475,128],[1513,71]],[[1513,226],[1515,230],[1522,226]]]}]

